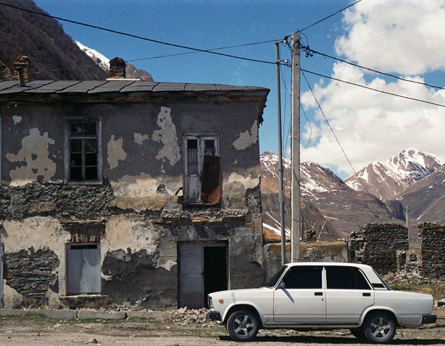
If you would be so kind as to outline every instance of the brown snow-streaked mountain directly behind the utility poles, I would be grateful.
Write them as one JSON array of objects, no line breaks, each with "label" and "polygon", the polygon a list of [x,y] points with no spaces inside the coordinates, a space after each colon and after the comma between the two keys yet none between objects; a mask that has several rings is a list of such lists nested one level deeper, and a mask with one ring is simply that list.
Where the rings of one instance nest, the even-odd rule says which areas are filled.
[{"label": "brown snow-streaked mountain directly behind the utility poles", "polygon": [[[260,162],[264,228],[279,234],[278,156],[266,152],[260,156]],[[290,225],[289,159],[283,159],[283,168],[287,228]],[[394,222],[396,218],[402,222],[399,202],[386,206],[372,195],[353,190],[331,170],[316,163],[302,163],[300,178],[303,228],[313,229],[322,240],[344,238],[369,222]]]}]

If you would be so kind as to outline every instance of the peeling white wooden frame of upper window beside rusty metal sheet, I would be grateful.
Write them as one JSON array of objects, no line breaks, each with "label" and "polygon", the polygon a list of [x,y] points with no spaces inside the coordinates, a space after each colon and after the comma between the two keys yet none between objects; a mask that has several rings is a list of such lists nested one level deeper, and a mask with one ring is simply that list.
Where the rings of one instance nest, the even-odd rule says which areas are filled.
[{"label": "peeling white wooden frame of upper window beside rusty metal sheet", "polygon": [[[198,165],[198,173],[189,174],[188,171],[188,152],[187,152],[187,140],[188,139],[196,139],[197,140],[197,165]],[[183,203],[191,204],[191,205],[212,205],[211,203],[204,203],[201,201],[201,189],[202,189],[202,168],[203,168],[203,160],[205,156],[205,141],[206,140],[214,140],[215,143],[215,155],[216,157],[220,157],[220,141],[218,137],[218,133],[183,133],[182,134],[182,157],[183,159]],[[189,191],[189,180],[190,177],[194,177],[199,179],[199,189],[198,189],[198,197],[197,201],[191,201],[192,197],[190,196]]]}]

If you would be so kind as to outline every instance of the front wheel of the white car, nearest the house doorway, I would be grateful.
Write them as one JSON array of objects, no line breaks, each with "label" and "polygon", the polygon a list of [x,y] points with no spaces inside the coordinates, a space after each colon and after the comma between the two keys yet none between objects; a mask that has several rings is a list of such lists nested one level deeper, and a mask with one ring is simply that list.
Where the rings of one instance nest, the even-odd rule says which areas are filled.
[{"label": "front wheel of the white car, nearest the house doorway", "polygon": [[260,329],[258,317],[250,311],[233,311],[227,319],[227,332],[235,341],[251,341]]}]

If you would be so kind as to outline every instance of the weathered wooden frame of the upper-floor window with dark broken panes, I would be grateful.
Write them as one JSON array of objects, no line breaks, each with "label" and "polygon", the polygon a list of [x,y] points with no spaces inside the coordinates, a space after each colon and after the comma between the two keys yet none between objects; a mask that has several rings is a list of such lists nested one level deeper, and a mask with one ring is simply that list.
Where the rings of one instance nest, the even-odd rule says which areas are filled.
[{"label": "weathered wooden frame of the upper-floor window with dark broken panes", "polygon": [[[96,122],[97,124],[97,136],[91,138],[97,138],[97,179],[96,180],[71,180],[70,172],[70,159],[71,159],[71,146],[70,146],[70,124],[73,122]],[[82,170],[85,171],[84,164]],[[66,117],[65,118],[65,172],[64,180],[66,184],[73,185],[99,185],[103,183],[102,176],[102,117]]]}]

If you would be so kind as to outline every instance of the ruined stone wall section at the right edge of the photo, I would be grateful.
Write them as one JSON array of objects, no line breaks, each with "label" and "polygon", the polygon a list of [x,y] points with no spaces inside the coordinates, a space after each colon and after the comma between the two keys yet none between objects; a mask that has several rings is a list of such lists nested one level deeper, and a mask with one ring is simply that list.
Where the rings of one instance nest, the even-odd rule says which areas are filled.
[{"label": "ruined stone wall section at the right edge of the photo", "polygon": [[418,225],[420,269],[424,276],[445,279],[445,224],[422,222]]}]

